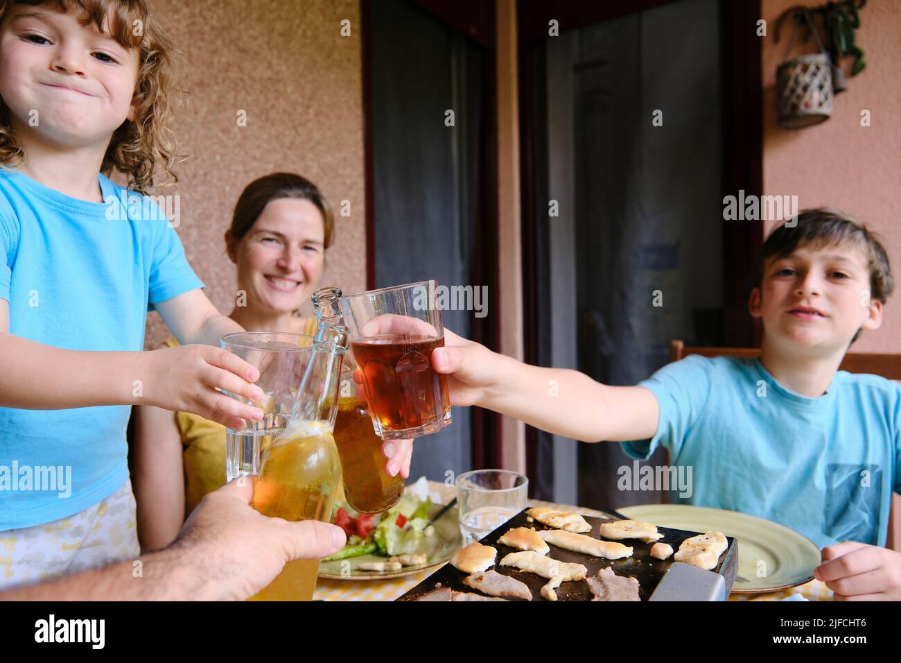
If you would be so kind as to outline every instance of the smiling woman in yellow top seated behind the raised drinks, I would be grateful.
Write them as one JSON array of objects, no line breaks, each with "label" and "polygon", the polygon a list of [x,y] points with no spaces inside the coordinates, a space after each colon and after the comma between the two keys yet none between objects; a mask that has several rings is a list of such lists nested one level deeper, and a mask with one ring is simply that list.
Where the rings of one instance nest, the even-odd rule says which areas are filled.
[{"label": "smiling woman in yellow top seated behind the raised drinks", "polygon": [[[297,310],[318,287],[333,237],[332,207],[309,180],[277,172],[250,182],[225,233],[238,272],[230,318],[249,331],[312,335],[315,318]],[[225,483],[225,428],[157,408],[135,408],[134,418],[139,539],[145,550],[162,548],[204,495]]]}]

